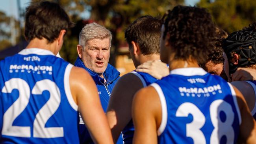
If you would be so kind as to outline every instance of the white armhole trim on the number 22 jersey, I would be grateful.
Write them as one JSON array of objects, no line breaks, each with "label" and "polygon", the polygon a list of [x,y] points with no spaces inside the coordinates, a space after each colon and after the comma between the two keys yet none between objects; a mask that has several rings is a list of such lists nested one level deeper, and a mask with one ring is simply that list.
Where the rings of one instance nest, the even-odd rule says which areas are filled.
[{"label": "white armhole trim on the number 22 jersey", "polygon": [[73,65],[68,64],[64,74],[64,89],[69,101],[70,106],[75,110],[78,111],[78,105],[74,102],[74,99],[71,94],[70,85],[69,85],[69,75]]}]

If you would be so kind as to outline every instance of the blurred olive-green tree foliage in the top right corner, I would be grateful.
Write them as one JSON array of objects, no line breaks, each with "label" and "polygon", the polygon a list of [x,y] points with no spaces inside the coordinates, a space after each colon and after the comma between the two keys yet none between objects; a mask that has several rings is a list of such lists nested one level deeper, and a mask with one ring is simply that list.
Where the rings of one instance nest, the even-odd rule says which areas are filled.
[{"label": "blurred olive-green tree foliage in the top right corner", "polygon": [[241,30],[256,20],[253,0],[200,0],[198,6],[206,7],[215,23],[228,33]]}]

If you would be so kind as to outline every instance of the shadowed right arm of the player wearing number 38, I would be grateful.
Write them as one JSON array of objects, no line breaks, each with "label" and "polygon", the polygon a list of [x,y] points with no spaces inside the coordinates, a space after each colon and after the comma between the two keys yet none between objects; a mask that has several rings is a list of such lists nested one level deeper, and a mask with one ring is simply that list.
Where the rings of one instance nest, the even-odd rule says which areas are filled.
[{"label": "shadowed right arm of the player wearing number 38", "polygon": [[237,103],[241,114],[241,125],[239,143],[256,144],[256,122],[250,114],[245,99],[239,90],[234,87],[237,96]]}]

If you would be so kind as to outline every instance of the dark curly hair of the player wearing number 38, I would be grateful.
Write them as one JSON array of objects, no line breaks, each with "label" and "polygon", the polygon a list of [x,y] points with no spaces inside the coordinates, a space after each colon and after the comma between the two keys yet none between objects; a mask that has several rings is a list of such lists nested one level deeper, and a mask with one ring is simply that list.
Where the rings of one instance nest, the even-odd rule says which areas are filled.
[{"label": "dark curly hair of the player wearing number 38", "polygon": [[198,62],[205,61],[215,42],[215,25],[210,13],[205,8],[176,6],[165,16],[163,39],[168,33],[174,59],[187,60],[192,56]]}]

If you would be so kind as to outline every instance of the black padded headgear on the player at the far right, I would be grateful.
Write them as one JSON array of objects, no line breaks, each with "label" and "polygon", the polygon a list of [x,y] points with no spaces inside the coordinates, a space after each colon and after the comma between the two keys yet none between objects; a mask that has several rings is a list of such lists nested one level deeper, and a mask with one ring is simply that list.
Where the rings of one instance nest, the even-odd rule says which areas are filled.
[{"label": "black padded headgear on the player at the far right", "polygon": [[[256,31],[235,31],[223,42],[223,49],[228,57],[229,73],[233,74],[238,67],[256,64]],[[239,55],[238,64],[230,62],[233,55]]]}]

